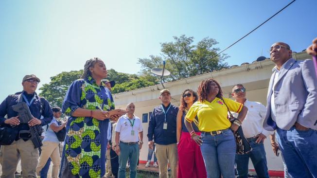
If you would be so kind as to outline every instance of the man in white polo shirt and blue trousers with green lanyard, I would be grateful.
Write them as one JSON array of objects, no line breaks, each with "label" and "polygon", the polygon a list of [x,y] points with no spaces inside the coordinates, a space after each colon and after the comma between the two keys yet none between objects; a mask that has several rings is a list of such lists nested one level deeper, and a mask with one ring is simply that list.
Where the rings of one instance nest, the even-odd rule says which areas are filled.
[{"label": "man in white polo shirt and blue trousers with green lanyard", "polygon": [[119,155],[118,178],[125,178],[125,166],[130,160],[130,178],[136,178],[137,163],[143,144],[143,128],[140,118],[134,115],[135,105],[126,106],[127,114],[121,116],[116,126],[116,153]]}]

